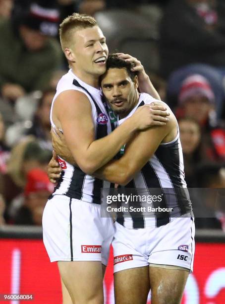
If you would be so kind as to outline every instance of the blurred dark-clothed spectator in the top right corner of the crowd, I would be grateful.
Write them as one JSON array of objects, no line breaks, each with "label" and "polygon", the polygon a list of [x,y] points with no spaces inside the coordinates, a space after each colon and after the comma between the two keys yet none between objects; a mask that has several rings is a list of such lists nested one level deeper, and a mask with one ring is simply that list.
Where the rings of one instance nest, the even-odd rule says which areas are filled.
[{"label": "blurred dark-clothed spectator in the top right corner of the crowd", "polygon": [[225,67],[225,1],[171,0],[160,29],[161,75],[190,63]]}]

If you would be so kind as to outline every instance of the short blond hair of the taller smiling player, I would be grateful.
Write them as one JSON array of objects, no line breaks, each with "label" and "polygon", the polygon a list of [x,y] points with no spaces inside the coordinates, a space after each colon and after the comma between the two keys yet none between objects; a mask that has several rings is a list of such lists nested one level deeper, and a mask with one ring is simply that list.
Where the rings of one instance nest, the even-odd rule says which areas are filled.
[{"label": "short blond hair of the taller smiling player", "polygon": [[66,17],[59,25],[59,38],[62,50],[64,51],[65,48],[71,46],[72,31],[95,25],[98,25],[95,18],[86,14],[73,13]]}]

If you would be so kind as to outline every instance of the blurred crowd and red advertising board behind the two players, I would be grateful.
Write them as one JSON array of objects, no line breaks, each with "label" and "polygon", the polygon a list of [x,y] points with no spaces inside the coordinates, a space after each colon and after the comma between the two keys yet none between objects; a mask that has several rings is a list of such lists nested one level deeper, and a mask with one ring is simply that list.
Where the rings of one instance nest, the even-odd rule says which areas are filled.
[{"label": "blurred crowd and red advertising board behind the two players", "polygon": [[[219,200],[193,195],[203,216],[182,303],[225,303],[225,0],[0,0],[0,294],[35,291],[35,303],[61,303],[41,219],[53,191],[51,102],[68,70],[58,25],[73,12],[97,19],[111,53],[142,62],[177,117],[188,187],[219,191]],[[111,265],[106,303],[112,284]]]}]

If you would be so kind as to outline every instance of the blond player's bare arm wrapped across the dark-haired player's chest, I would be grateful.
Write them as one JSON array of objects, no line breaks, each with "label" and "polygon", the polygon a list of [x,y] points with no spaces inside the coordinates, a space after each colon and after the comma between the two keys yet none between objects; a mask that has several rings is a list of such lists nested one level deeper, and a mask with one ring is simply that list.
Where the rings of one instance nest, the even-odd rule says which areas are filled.
[{"label": "blond player's bare arm wrapped across the dark-haired player's chest", "polygon": [[54,113],[75,162],[85,173],[92,174],[109,162],[136,131],[151,126],[151,107],[141,108],[110,135],[98,140],[95,140],[91,104],[85,94],[64,91],[56,98]]}]

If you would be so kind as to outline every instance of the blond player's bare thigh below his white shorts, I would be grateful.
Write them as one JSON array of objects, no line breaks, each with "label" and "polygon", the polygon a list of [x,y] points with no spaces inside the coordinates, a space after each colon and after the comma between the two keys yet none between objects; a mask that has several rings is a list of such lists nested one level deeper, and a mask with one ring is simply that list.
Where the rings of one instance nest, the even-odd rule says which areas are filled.
[{"label": "blond player's bare thigh below his white shorts", "polygon": [[58,269],[73,303],[104,303],[103,269],[100,261],[59,261]]}]

